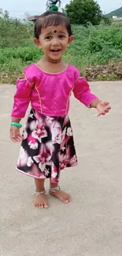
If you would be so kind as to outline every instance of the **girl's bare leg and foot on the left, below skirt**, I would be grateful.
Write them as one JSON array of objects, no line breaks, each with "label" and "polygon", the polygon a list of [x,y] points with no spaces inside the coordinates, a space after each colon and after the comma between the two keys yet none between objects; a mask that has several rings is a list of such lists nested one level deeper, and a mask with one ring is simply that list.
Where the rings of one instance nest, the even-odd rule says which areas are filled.
[{"label": "girl's bare leg and foot on the left, below skirt", "polygon": [[[45,179],[35,179],[35,191],[36,192],[45,191],[44,182],[45,182]],[[41,195],[35,196],[35,207],[48,208],[48,203],[46,201],[46,195],[41,194]]]}]

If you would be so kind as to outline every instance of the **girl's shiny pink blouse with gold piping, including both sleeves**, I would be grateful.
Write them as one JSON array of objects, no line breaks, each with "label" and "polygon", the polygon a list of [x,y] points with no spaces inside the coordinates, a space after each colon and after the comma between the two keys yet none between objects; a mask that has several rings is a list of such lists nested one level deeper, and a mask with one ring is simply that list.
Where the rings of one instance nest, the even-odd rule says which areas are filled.
[{"label": "girl's shiny pink blouse with gold piping, including both sleeves", "polygon": [[97,96],[91,94],[84,77],[72,65],[59,73],[48,73],[31,64],[24,69],[25,79],[17,80],[11,117],[25,116],[29,102],[38,113],[50,117],[64,117],[68,113],[69,98],[72,91],[77,99],[89,106]]}]

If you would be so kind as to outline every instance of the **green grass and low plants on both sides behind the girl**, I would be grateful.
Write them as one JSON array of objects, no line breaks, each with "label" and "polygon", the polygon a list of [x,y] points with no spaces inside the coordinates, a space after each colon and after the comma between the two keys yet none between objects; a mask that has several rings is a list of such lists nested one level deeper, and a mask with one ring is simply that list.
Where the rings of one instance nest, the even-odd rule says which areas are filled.
[{"label": "green grass and low plants on both sides behind the girl", "polygon": [[[19,24],[17,26],[13,22],[8,34],[5,30],[4,33],[0,30],[0,82],[2,83],[14,83],[26,65],[39,61],[43,56],[41,50],[33,44],[33,26],[21,24],[20,27]],[[102,23],[97,27],[89,24],[87,28],[78,25],[72,28],[75,40],[68,47],[64,60],[76,65],[81,75],[85,76],[89,67],[109,65],[111,61],[114,63],[122,61],[121,24],[109,26]],[[118,79],[116,73],[109,77],[113,80]],[[105,79],[109,80],[109,77],[106,75]],[[91,77],[88,78],[92,80]],[[104,77],[98,73],[95,80],[104,80]]]}]

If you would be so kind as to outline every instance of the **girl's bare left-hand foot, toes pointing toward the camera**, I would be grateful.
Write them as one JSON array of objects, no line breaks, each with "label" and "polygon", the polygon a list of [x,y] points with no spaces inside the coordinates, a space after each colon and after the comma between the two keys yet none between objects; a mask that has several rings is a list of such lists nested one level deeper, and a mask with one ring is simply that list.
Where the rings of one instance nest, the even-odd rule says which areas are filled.
[{"label": "girl's bare left-hand foot, toes pointing toward the camera", "polygon": [[42,195],[37,195],[35,196],[35,207],[37,208],[48,208],[48,203],[46,200],[46,195],[42,194]]}]

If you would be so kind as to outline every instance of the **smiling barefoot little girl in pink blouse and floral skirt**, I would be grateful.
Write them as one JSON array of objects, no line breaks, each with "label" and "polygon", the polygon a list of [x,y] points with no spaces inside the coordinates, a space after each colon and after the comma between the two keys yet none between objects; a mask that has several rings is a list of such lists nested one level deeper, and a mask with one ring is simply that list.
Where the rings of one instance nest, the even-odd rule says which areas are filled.
[{"label": "smiling barefoot little girl in pink blouse and floral skirt", "polygon": [[[77,165],[72,127],[68,118],[69,98],[73,92],[85,106],[98,110],[98,116],[109,112],[109,102],[91,94],[79,70],[62,60],[74,36],[68,17],[59,12],[43,13],[35,21],[34,43],[44,56],[24,69],[17,80],[14,95],[10,138],[20,142],[17,170],[35,178],[35,206],[48,208],[44,183],[50,178],[50,195],[62,202],[70,195],[58,186],[61,169]],[[31,102],[31,113],[20,135],[20,119]]]}]

